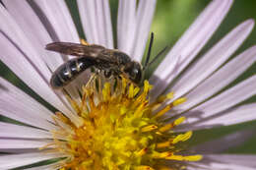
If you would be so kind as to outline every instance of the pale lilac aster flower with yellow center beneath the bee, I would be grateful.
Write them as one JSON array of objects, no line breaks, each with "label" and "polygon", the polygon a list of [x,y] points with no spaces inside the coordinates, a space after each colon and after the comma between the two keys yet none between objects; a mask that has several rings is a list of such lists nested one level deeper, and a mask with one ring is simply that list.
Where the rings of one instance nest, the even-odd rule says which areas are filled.
[{"label": "pale lilac aster flower with yellow center beneath the bee", "polygon": [[[65,93],[53,90],[49,80],[72,56],[44,50],[52,41],[80,42],[64,1],[3,3],[1,61],[54,109],[0,79],[0,114],[22,123],[0,123],[0,169],[25,169],[45,160],[52,161],[27,168],[255,169],[254,155],[216,154],[224,149],[220,143],[234,146],[250,137],[250,131],[184,149],[192,131],[256,118],[254,103],[238,105],[255,94],[255,76],[218,93],[255,62],[253,46],[224,65],[249,35],[252,20],[233,28],[182,73],[221,25],[231,0],[208,5],[150,83],[138,87],[124,78],[113,82],[100,76],[87,83],[85,73]],[[117,47],[136,61],[144,54],[156,3],[141,0],[136,8],[136,0],[119,1]],[[78,7],[87,41],[113,48],[108,2],[78,0]]]}]

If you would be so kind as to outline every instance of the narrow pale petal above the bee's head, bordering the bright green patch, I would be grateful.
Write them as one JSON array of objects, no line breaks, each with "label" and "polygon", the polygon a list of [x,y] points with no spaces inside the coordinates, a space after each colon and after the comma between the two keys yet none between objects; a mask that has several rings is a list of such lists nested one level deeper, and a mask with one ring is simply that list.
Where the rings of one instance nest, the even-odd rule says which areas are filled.
[{"label": "narrow pale petal above the bee's head, bordering the bright green patch", "polygon": [[[133,42],[131,43],[133,45],[131,57],[139,62],[141,61],[144,54],[156,4],[156,0],[139,1],[136,16],[136,29]],[[130,35],[128,34],[128,36]]]}]

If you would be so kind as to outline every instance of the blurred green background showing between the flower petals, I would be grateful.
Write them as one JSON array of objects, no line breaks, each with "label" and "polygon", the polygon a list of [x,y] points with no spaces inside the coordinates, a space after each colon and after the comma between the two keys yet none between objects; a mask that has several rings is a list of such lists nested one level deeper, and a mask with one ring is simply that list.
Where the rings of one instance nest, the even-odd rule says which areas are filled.
[{"label": "blurred green background showing between the flower petals", "polygon": [[[153,21],[152,31],[155,32],[155,42],[153,55],[156,56],[156,53],[160,51],[164,46],[172,46],[175,41],[181,36],[181,34],[188,28],[200,12],[206,7],[210,0],[159,0],[157,5],[157,10],[155,14],[155,19]],[[81,28],[81,23],[79,21],[79,14],[77,12],[77,4],[75,0],[66,0],[76,26],[78,28],[79,34],[83,37],[83,30]],[[117,0],[110,0],[111,3],[111,13],[113,19],[113,26],[116,26],[116,13],[118,8]],[[207,51],[213,44],[218,42],[225,33],[230,29],[234,28],[241,22],[247,19],[256,20],[256,1],[255,0],[235,0],[233,3],[227,17],[224,19],[222,26],[214,34],[210,42],[204,47],[201,53]],[[115,30],[115,28],[113,28]],[[242,52],[246,48],[256,44],[256,29],[252,31],[248,39],[243,43],[243,45],[237,50],[236,54]],[[235,56],[235,55],[233,55]],[[161,59],[160,59],[161,60]],[[160,60],[156,63],[154,68],[160,63]],[[241,77],[239,77],[233,84],[235,85],[240,81],[255,75],[256,73],[256,64],[254,65]],[[15,77],[2,63],[0,63],[0,74],[2,77],[6,78],[15,85],[20,86],[31,94],[34,98],[43,102],[47,105],[40,97],[36,96],[27,85],[24,85]],[[231,86],[229,85],[229,86]],[[256,102],[256,97],[251,97],[246,102]],[[256,114],[256,113],[255,113]],[[244,130],[244,129],[254,129],[256,134],[256,122],[249,122],[240,125],[217,128],[211,131],[200,131],[195,134],[195,137],[192,138],[191,142],[205,142],[210,139],[220,138],[226,134]],[[239,153],[256,153],[256,137],[252,137],[248,142],[243,143],[242,145],[229,149],[228,152],[239,152]]]}]

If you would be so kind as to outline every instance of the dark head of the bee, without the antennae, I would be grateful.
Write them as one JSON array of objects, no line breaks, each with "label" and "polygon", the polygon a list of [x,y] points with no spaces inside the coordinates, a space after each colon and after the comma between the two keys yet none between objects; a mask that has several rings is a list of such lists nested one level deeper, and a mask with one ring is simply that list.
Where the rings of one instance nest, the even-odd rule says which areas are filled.
[{"label": "dark head of the bee, without the antennae", "polygon": [[125,76],[134,84],[139,85],[142,81],[142,66],[138,62],[128,62],[124,66],[123,72]]}]

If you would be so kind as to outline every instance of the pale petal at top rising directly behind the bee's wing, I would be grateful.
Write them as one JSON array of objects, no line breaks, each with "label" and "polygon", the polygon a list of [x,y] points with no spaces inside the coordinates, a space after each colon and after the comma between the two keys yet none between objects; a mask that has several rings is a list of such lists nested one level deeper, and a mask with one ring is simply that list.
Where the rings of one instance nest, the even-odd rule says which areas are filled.
[{"label": "pale petal at top rising directly behind the bee's wing", "polygon": [[108,2],[104,0],[79,0],[78,7],[88,42],[113,48]]}]

